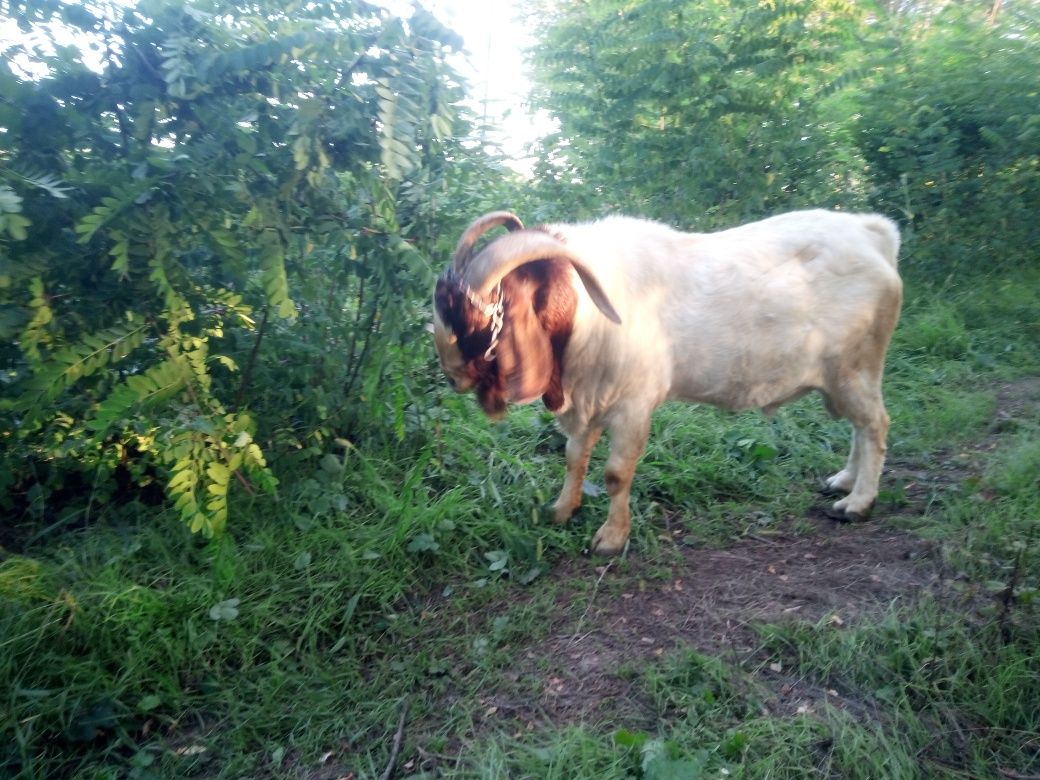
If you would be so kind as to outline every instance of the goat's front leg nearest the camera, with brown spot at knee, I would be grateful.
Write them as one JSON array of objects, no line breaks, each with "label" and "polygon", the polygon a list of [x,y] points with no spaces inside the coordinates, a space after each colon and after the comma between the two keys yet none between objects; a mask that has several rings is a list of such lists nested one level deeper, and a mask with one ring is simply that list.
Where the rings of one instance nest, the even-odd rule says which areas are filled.
[{"label": "goat's front leg nearest the camera, with brown spot at knee", "polygon": [[616,555],[628,543],[631,529],[631,511],[628,499],[632,476],[650,433],[650,413],[642,410],[618,415],[610,422],[610,454],[606,459],[606,493],[610,509],[596,536],[589,545],[597,555]]}]

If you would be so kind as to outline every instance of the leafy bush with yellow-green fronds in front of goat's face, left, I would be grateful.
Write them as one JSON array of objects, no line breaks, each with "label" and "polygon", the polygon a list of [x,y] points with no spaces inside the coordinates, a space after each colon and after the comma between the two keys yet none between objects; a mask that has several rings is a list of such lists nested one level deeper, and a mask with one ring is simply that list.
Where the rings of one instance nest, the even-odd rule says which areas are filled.
[{"label": "leafy bush with yellow-green fronds in front of goat's face, left", "polygon": [[460,42],[360,2],[15,10],[0,501],[43,516],[122,472],[216,532],[232,486],[274,490],[272,447],[382,416],[365,399],[421,335]]}]

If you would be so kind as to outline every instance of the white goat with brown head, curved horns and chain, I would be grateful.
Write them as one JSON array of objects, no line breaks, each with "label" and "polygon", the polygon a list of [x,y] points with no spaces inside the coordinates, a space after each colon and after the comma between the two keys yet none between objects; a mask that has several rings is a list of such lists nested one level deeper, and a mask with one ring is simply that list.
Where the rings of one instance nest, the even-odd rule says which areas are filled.
[{"label": "white goat with brown head, curved horns and chain", "polygon": [[[509,233],[474,255],[477,240]],[[621,551],[650,417],[669,399],[727,410],[812,390],[852,422],[852,447],[825,491],[828,511],[872,510],[885,456],[885,350],[900,315],[900,234],[877,214],[796,211],[717,233],[613,216],[524,229],[506,211],[465,231],[434,290],[434,341],[454,389],[484,411],[539,396],[567,434],[564,522],[600,434],[609,433],[606,521],[590,550]]]}]

